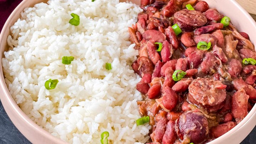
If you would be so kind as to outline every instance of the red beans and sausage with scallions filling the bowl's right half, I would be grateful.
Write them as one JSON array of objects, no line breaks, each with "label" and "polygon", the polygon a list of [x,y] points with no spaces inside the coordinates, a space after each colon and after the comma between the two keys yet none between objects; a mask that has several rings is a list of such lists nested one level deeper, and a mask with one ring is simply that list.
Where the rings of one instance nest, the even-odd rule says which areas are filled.
[{"label": "red beans and sausage with scallions filling the bowl's right half", "polygon": [[129,33],[150,142],[207,143],[234,128],[256,100],[249,36],[205,1],[141,0],[141,8]]}]

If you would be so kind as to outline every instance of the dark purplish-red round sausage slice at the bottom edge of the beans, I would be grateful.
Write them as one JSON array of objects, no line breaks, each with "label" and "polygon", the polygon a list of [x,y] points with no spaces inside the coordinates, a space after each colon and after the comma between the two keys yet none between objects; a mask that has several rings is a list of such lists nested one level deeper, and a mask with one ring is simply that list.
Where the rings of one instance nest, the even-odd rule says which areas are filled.
[{"label": "dark purplish-red round sausage slice at the bottom edge of the beans", "polygon": [[187,137],[191,143],[201,143],[209,133],[208,121],[201,112],[187,111],[177,119],[176,130],[181,140]]}]

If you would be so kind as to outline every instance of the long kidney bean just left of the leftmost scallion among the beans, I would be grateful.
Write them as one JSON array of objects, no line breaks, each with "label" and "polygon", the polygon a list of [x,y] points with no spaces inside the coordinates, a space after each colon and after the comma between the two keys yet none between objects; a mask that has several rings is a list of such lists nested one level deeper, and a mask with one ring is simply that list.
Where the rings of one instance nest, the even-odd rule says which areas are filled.
[{"label": "long kidney bean just left of the leftmost scallion among the beans", "polygon": [[154,65],[161,60],[161,57],[158,52],[156,52],[156,45],[154,44],[155,41],[150,40],[147,43],[147,50],[148,50],[148,55],[151,61],[153,62]]}]

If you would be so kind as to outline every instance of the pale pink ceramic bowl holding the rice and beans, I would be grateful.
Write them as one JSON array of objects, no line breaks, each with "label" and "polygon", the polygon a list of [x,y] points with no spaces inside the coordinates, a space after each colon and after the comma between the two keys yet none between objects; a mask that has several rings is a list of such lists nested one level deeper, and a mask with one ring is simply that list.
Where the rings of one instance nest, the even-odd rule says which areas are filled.
[{"label": "pale pink ceramic bowl holding the rice and beans", "polygon": [[[121,0],[125,1],[125,0]],[[135,4],[140,3],[140,0],[130,0]],[[205,0],[210,7],[217,8],[222,14],[229,16],[232,23],[238,28],[249,34],[252,43],[256,44],[256,23],[252,17],[235,1],[235,0]],[[2,59],[4,51],[7,50],[7,36],[10,34],[10,27],[14,25],[20,17],[21,11],[25,7],[33,7],[39,2],[47,2],[47,0],[23,0],[20,5],[12,12],[6,21],[0,34],[0,59]],[[20,130],[20,132],[32,143],[36,144],[63,144],[62,140],[55,138],[46,130],[40,128],[25,113],[17,106],[12,99],[9,90],[4,81],[2,71],[2,63],[0,63],[0,98],[6,113],[11,121]],[[233,129],[226,134],[213,140],[209,144],[225,144],[225,143],[240,143],[256,125],[256,107],[254,106],[251,112]]]}]

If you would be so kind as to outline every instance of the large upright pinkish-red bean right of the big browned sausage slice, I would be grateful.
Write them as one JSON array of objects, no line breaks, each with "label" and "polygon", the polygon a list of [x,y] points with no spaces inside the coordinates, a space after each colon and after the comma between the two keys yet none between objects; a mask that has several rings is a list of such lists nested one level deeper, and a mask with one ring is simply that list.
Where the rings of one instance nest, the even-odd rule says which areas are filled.
[{"label": "large upright pinkish-red bean right of the big browned sausage slice", "polygon": [[237,123],[242,121],[248,114],[248,99],[249,95],[246,95],[244,89],[240,89],[231,98],[231,112]]}]

